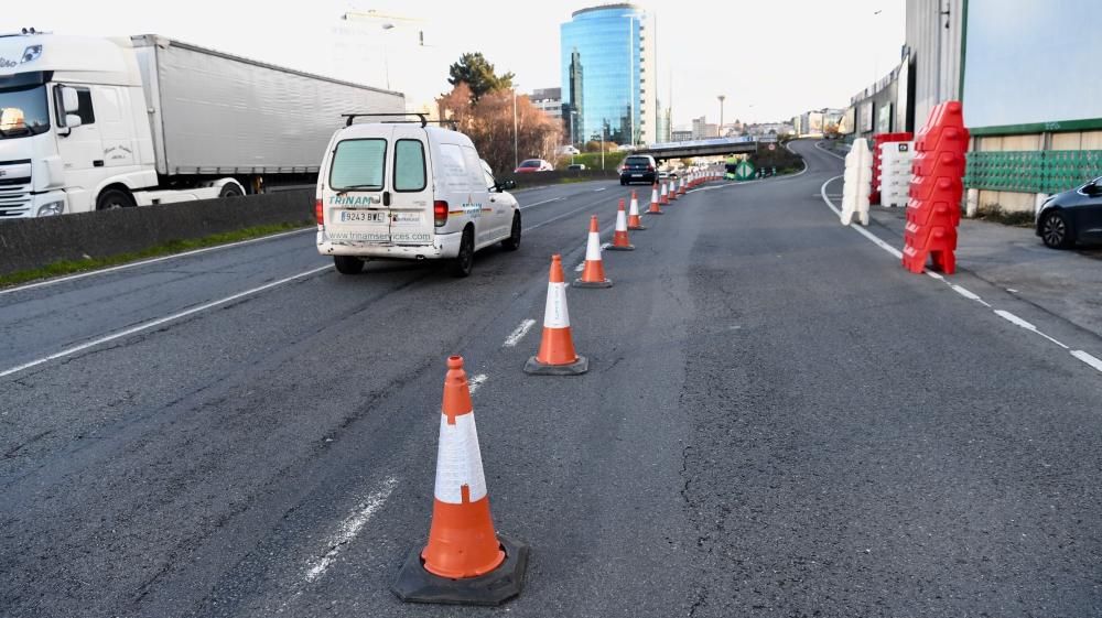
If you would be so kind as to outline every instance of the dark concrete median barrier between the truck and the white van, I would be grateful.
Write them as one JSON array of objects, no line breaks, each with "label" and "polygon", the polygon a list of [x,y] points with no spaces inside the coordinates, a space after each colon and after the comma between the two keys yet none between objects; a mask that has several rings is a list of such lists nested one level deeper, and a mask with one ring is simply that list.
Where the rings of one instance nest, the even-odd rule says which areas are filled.
[{"label": "dark concrete median barrier between the truck and the white van", "polygon": [[309,221],[314,191],[0,221],[0,274],[106,258],[255,226]]}]

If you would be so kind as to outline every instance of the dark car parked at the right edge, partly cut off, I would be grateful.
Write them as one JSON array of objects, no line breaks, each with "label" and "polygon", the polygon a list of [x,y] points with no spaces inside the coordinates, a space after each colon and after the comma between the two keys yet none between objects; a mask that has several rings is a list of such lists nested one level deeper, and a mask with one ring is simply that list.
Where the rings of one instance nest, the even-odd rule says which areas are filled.
[{"label": "dark car parked at the right edge, partly cut off", "polygon": [[1052,249],[1102,242],[1102,177],[1046,199],[1037,210],[1037,236]]}]

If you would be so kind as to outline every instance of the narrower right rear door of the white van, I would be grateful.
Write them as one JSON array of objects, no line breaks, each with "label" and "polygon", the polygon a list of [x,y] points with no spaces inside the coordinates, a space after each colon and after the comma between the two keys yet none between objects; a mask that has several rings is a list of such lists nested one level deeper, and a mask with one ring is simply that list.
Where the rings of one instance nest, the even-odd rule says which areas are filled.
[{"label": "narrower right rear door of the white van", "polygon": [[390,238],[395,245],[432,245],[432,187],[429,185],[428,132],[396,124],[390,174]]}]

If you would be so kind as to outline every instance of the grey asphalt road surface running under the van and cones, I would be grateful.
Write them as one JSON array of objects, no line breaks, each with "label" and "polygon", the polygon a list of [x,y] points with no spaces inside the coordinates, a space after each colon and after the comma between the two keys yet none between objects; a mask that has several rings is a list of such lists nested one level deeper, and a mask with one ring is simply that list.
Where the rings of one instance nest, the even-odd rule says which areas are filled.
[{"label": "grey asphalt road surface running under the van and cones", "polygon": [[[0,294],[0,372],[94,344],[0,377],[0,614],[1102,615],[1102,375],[840,226],[840,162],[796,148],[807,173],[694,192],[569,292],[582,377],[521,372],[539,325],[505,341],[615,183],[521,194],[521,250],[466,280],[341,277],[303,234]],[[498,609],[388,589],[451,354],[532,546]]]}]

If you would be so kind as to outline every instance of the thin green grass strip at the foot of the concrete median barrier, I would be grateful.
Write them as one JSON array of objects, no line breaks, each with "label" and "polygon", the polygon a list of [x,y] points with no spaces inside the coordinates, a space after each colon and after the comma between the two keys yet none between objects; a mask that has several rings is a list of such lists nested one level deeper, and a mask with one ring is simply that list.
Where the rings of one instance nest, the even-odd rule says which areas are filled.
[{"label": "thin green grass strip at the foot of the concrete median barrier", "polygon": [[203,238],[173,240],[171,242],[165,242],[164,245],[158,245],[155,247],[150,247],[148,249],[143,249],[141,251],[134,251],[131,253],[118,253],[116,256],[105,256],[101,258],[87,258],[84,260],[61,260],[36,269],[21,270],[8,274],[2,274],[0,275],[0,288],[10,288],[12,285],[19,285],[20,283],[26,283],[39,279],[50,279],[52,277],[62,277],[65,274],[74,274],[77,272],[98,270],[119,264],[125,264],[128,262],[136,262],[138,260],[148,260],[150,258],[160,258],[162,256],[171,256],[173,253],[194,251],[195,249],[205,249],[207,247],[215,247],[218,245],[240,242],[241,240],[251,240],[253,238],[271,236],[273,234],[279,234],[282,231],[291,231],[311,225],[314,225],[314,223],[309,220],[302,220],[291,224],[272,224],[267,226],[256,226],[235,231],[224,231],[222,234],[204,236]]}]

